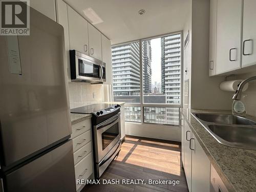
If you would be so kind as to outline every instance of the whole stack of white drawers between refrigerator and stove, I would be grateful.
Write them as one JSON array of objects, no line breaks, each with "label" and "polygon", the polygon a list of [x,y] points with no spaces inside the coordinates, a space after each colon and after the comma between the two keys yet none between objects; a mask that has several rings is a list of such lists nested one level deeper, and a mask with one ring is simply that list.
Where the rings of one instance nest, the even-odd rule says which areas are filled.
[{"label": "whole stack of white drawers between refrigerator and stove", "polygon": [[[88,179],[93,174],[91,119],[72,125],[75,178]],[[80,191],[84,185],[76,184]]]}]

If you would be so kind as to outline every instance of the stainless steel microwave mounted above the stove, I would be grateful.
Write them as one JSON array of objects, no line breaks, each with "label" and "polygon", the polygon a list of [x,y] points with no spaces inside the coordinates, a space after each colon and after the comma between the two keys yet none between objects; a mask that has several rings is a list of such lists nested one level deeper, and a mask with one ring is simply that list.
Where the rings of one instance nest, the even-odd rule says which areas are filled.
[{"label": "stainless steel microwave mounted above the stove", "polygon": [[71,81],[105,82],[106,65],[101,60],[70,50]]}]

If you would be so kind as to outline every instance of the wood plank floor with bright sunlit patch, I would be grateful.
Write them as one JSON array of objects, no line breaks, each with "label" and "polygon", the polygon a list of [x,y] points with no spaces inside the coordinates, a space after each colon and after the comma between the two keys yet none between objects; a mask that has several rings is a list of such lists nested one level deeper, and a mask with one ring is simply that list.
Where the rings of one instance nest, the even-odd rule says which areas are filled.
[{"label": "wood plank floor with bright sunlit patch", "polygon": [[[144,179],[139,185],[86,185],[88,191],[188,191],[183,168],[181,168],[181,145],[179,142],[162,141],[126,136],[119,155],[105,170],[101,179]],[[179,180],[180,184],[148,184],[152,180]]]}]

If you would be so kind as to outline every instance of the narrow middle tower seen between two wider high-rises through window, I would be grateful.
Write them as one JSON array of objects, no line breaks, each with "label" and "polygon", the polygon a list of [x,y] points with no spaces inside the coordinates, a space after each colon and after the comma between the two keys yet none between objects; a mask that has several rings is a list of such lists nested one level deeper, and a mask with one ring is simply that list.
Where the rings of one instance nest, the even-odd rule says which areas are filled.
[{"label": "narrow middle tower seen between two wider high-rises through window", "polygon": [[143,91],[144,94],[151,93],[151,61],[152,61],[152,50],[151,41],[142,41],[142,70],[143,70]]}]

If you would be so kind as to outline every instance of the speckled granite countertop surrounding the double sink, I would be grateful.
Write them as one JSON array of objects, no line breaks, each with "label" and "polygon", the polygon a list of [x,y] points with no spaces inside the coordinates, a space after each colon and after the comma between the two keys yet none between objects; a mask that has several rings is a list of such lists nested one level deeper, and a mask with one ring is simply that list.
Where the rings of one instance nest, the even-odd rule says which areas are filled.
[{"label": "speckled granite countertop surrounding the double sink", "polygon": [[[229,191],[256,191],[256,151],[220,144],[190,112],[231,114],[223,110],[180,109],[211,164]],[[246,118],[256,121],[253,116]]]}]

